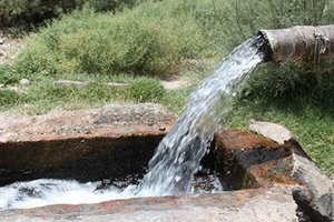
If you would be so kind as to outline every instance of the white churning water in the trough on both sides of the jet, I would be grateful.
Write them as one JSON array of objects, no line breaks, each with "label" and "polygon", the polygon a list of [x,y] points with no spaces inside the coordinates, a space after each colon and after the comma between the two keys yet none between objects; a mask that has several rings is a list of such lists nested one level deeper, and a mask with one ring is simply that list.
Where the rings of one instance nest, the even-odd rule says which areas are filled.
[{"label": "white churning water in the trough on both sides of the jet", "polygon": [[[73,180],[40,179],[16,182],[0,188],[0,211],[9,209],[31,209],[53,204],[91,204],[104,201],[135,198],[136,185],[132,178],[104,184],[104,182],[79,183]],[[216,174],[195,178],[191,192],[216,193],[223,186]]]}]

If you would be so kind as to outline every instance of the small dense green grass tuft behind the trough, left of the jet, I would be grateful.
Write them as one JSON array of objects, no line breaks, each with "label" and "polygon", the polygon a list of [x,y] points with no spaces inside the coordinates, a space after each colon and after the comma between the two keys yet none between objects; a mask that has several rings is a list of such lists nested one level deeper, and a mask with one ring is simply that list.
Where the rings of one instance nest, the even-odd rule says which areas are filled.
[{"label": "small dense green grass tuft behind the trough, left of the jet", "polygon": [[166,94],[166,90],[157,79],[137,78],[127,87],[126,93],[137,102],[157,102]]}]

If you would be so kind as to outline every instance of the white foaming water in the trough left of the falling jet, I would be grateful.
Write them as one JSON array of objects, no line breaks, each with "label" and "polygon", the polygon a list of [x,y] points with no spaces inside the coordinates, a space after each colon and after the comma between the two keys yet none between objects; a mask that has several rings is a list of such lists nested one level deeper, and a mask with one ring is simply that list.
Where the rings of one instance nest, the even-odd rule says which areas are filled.
[{"label": "white foaming water in the trough left of the falling jet", "polygon": [[125,190],[98,190],[98,183],[66,180],[36,180],[0,188],[0,209],[30,209],[51,204],[99,203],[135,196],[135,185]]}]

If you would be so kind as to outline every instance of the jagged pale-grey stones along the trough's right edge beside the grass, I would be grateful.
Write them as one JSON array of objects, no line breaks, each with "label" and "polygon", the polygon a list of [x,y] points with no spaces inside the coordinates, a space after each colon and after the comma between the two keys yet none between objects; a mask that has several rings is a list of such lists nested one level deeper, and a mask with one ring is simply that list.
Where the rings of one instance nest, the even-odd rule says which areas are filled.
[{"label": "jagged pale-grey stones along the trough's right edge beside the grass", "polygon": [[288,147],[293,153],[292,175],[304,186],[296,188],[293,196],[298,204],[299,220],[334,221],[334,185],[305,153],[291,132],[271,122],[253,122],[249,129]]}]

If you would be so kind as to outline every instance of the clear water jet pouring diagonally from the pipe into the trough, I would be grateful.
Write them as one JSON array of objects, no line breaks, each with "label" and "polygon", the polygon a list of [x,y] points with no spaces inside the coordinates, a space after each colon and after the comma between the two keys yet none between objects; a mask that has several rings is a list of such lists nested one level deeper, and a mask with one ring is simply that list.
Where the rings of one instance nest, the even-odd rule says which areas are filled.
[{"label": "clear water jet pouring diagonally from the pipe into the trough", "polygon": [[214,73],[188,97],[183,114],[164,138],[149,162],[138,195],[171,195],[190,192],[194,173],[207,152],[222,115],[230,109],[234,88],[259,62],[259,37],[237,47]]}]

